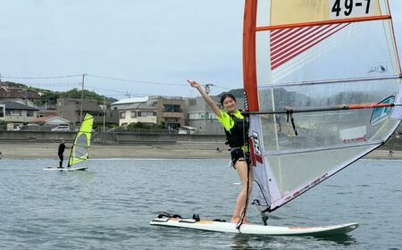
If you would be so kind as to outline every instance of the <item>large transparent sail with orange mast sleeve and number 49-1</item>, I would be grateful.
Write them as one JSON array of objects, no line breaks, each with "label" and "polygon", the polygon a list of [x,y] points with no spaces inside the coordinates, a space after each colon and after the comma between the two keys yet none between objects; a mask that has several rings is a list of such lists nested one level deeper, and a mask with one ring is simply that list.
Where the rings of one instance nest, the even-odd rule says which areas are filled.
[{"label": "large transparent sail with orange mast sleeve and number 49-1", "polygon": [[401,121],[387,0],[246,0],[243,61],[262,211],[383,145]]}]

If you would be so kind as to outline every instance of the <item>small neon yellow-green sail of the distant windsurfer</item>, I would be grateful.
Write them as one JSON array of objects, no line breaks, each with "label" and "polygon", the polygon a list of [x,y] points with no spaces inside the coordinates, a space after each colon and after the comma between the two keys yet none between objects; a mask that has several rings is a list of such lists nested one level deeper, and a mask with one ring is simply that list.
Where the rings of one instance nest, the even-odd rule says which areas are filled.
[{"label": "small neon yellow-green sail of the distant windsurfer", "polygon": [[78,130],[77,136],[75,137],[74,143],[71,147],[71,154],[68,164],[69,167],[88,159],[89,147],[91,146],[93,123],[94,117],[87,113],[84,119],[81,121],[80,129]]}]

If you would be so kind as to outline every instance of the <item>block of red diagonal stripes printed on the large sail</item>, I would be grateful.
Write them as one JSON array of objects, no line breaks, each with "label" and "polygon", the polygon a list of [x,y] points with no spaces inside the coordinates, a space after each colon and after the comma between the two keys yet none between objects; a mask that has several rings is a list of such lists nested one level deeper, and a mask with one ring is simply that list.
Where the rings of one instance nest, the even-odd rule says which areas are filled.
[{"label": "block of red diagonal stripes printed on the large sail", "polygon": [[[340,29],[347,27],[350,23],[331,24],[316,26],[317,29],[305,27],[302,33],[297,33],[299,36],[290,40],[278,40],[271,42],[271,69],[274,70],[280,67],[283,63],[295,58],[297,55],[306,52],[309,48],[322,42],[324,39],[331,37]],[[298,32],[298,30],[296,31]],[[307,36],[307,37],[305,37]],[[279,46],[281,44],[281,46]]]}]

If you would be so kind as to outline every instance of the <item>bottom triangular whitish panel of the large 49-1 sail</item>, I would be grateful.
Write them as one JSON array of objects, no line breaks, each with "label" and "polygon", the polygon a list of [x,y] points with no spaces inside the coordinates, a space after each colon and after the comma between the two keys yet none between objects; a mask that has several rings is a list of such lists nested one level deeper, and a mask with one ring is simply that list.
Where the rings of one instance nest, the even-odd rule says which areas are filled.
[{"label": "bottom triangular whitish panel of the large 49-1 sail", "polygon": [[[377,145],[378,146],[378,145]],[[271,205],[275,209],[296,196],[301,195],[310,187],[314,187],[333,173],[341,170],[346,162],[354,162],[364,154],[372,151],[372,146],[358,146],[343,149],[309,152],[306,154],[286,154],[265,156],[271,168],[267,183],[271,204],[264,204],[264,197],[258,188],[257,199],[260,205]],[[259,185],[256,185],[259,186]]]}]

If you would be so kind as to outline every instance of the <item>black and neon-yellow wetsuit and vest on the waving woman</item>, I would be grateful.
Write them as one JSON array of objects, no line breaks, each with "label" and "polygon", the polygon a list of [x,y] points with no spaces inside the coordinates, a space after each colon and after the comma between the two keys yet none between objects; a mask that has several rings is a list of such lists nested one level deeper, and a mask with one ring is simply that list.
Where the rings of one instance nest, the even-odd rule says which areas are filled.
[{"label": "black and neon-yellow wetsuit and vest on the waving woman", "polygon": [[221,111],[221,116],[216,116],[216,118],[222,123],[225,130],[230,146],[231,162],[235,166],[236,162],[244,161],[247,158],[247,122],[244,122],[244,117],[239,110],[234,113]]}]

